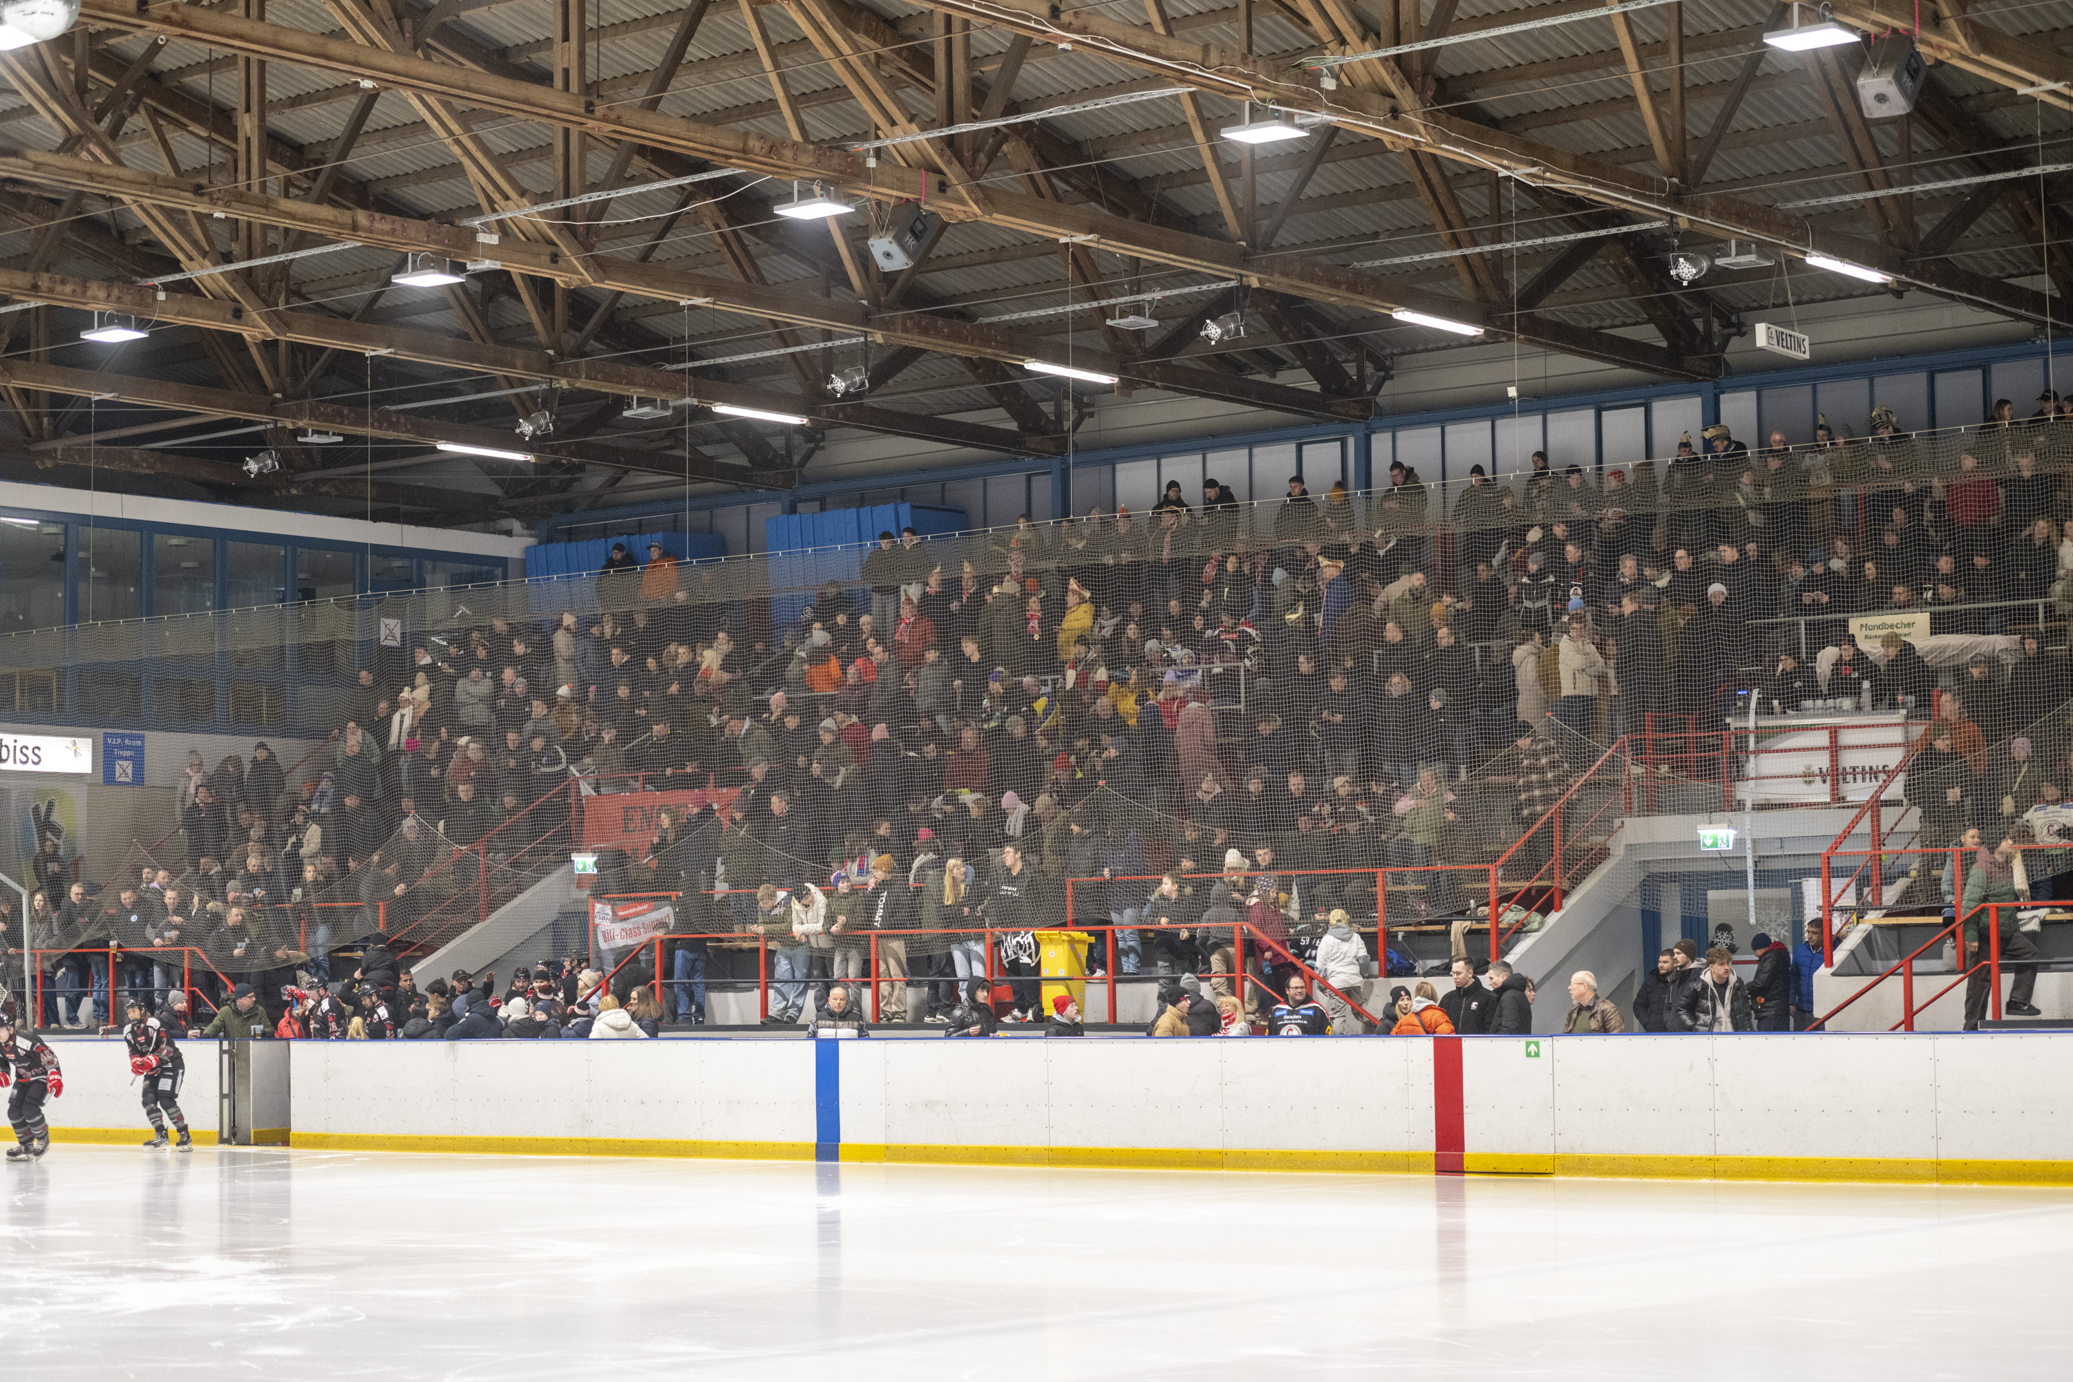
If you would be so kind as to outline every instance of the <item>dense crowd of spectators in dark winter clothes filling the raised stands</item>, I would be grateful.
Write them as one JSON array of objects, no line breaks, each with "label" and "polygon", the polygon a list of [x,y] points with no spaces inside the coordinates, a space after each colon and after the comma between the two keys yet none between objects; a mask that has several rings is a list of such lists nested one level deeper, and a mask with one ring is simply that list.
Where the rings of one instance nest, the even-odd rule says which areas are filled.
[{"label": "dense crowd of spectators in dark winter clothes filling the raised stands", "polygon": [[[1250,508],[1213,479],[1198,501],[1173,483],[1142,516],[883,532],[856,586],[775,622],[726,572],[620,545],[597,613],[375,653],[292,781],[265,744],[214,771],[197,754],[184,868],[102,889],[39,876],[31,934],[193,945],[272,1009],[437,912],[473,883],[456,852],[506,823],[529,816],[527,839],[566,852],[570,794],[553,789],[574,779],[684,791],[601,883],[678,893],[682,930],[769,947],[773,1021],[815,1021],[831,982],[864,978],[867,932],[891,932],[877,1011],[949,1028],[985,957],[945,932],[976,926],[1001,937],[1001,1015],[1051,1021],[1032,934],[1066,918],[1076,879],[1072,916],[1117,928],[1092,972],[1157,976],[1161,1017],[1206,980],[1271,1030],[1298,961],[1327,984],[1362,959],[1399,972],[1372,926],[1335,939],[1327,920],[1372,918],[1376,870],[1488,862],[1592,744],[1652,713],[1712,725],[1735,690],[1934,713],[1907,777],[1934,841],[2061,802],[2073,742],[2017,733],[2069,692],[2042,630],[1942,671],[1915,640],[1874,653],[1849,634],[1862,613],[1922,609],[1934,638],[2056,609],[2073,568],[2058,408],[1936,437],[1880,408],[1868,437],[1820,419],[1758,450],[1714,425],[1660,474],[1644,460],[1600,481],[1536,452],[1515,483],[1476,466],[1447,495],[1403,464],[1370,495],[1310,495],[1298,474]],[[1932,696],[1940,675],[1955,686]],[[1405,893],[1432,916],[1470,905],[1441,872]],[[1227,978],[1240,924],[1267,941],[1244,995]],[[668,968],[670,1017],[703,1021],[705,941]],[[153,1003],[168,980],[149,957],[116,976]],[[925,1011],[906,1011],[906,980]],[[89,995],[104,1015],[106,982],[106,966],[54,961],[58,1019]],[[1188,999],[1194,1021],[1221,1021],[1213,999]],[[1619,1021],[1578,1003],[1592,1030]],[[1383,1007],[1397,1028],[1447,1003]],[[1360,1019],[1341,1005],[1325,1021]]]}]

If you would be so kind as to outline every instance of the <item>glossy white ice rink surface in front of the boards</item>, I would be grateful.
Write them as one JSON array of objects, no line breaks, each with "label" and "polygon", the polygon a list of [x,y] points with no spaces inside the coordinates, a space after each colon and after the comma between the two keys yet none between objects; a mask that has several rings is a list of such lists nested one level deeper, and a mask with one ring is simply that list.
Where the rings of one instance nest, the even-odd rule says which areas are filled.
[{"label": "glossy white ice rink surface in front of the boards", "polygon": [[2073,1376],[2065,1189],[64,1144],[0,1173],[21,1382]]}]

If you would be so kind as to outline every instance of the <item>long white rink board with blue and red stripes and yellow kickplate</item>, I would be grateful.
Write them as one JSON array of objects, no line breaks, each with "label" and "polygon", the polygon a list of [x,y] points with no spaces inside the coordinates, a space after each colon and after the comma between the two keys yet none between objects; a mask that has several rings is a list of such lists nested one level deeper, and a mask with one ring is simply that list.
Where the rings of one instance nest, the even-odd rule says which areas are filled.
[{"label": "long white rink board with blue and red stripes and yellow kickplate", "polygon": [[296,1042],[292,1146],[2073,1185],[2073,1036]]}]

